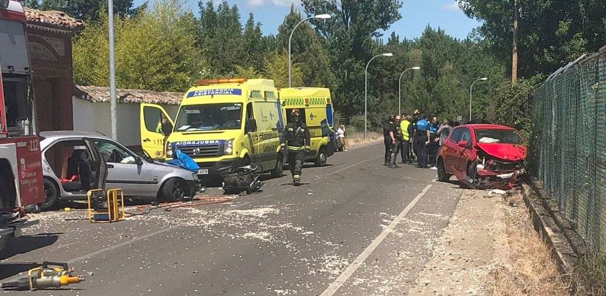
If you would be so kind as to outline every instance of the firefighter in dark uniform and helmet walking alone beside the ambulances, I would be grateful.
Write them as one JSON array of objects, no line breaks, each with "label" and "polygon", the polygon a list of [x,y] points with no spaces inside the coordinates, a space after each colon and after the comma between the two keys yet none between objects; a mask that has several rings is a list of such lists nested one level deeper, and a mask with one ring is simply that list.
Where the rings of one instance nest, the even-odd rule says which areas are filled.
[{"label": "firefighter in dark uniform and helmet walking alone beside the ambulances", "polygon": [[299,109],[293,109],[290,113],[293,121],[288,123],[282,133],[281,147],[287,150],[288,166],[293,175],[293,185],[301,184],[301,170],[305,162],[305,156],[310,149],[310,135],[305,123],[301,121],[301,112]]}]

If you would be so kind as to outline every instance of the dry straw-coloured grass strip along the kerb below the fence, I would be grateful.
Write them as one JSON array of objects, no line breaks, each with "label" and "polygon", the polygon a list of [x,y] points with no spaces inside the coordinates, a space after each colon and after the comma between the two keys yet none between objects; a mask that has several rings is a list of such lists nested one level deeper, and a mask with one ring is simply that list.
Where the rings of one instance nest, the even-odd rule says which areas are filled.
[{"label": "dry straw-coloured grass strip along the kerb below the fence", "polygon": [[493,271],[493,295],[570,295],[550,250],[533,228],[521,195],[507,201],[518,205],[507,206],[505,214],[510,264]]}]

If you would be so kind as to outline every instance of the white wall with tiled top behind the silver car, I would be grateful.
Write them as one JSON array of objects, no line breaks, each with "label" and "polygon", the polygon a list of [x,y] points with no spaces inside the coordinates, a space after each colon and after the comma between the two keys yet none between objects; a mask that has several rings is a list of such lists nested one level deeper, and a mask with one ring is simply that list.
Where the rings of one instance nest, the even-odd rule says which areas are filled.
[{"label": "white wall with tiled top behind the silver car", "polygon": [[[76,97],[72,98],[73,129],[101,132],[112,135],[110,124],[110,103],[92,103]],[[161,105],[170,116],[175,116],[179,106]],[[139,127],[139,104],[118,104],[118,141],[124,146],[141,146]]]}]

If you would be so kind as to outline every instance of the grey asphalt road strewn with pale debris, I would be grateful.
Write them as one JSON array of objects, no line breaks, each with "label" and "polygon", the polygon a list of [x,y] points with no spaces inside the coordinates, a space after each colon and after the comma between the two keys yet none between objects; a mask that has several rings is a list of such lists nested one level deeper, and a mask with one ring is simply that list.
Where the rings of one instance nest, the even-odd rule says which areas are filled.
[{"label": "grey asphalt road strewn with pale debris", "polygon": [[21,247],[1,254],[0,281],[52,260],[87,280],[8,294],[408,295],[461,189],[436,182],[435,170],[381,166],[383,149],[306,167],[300,187],[285,171],[262,192],[227,203],[111,224],[65,221],[82,211],[45,213]]}]

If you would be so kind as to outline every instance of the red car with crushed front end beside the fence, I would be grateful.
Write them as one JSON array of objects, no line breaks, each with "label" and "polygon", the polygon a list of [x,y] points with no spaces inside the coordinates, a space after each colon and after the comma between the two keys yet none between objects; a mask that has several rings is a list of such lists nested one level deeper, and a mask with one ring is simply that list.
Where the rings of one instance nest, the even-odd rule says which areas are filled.
[{"label": "red car with crushed front end beside the fence", "polygon": [[509,189],[524,174],[527,146],[518,130],[496,124],[455,127],[438,155],[438,179],[473,188]]}]

